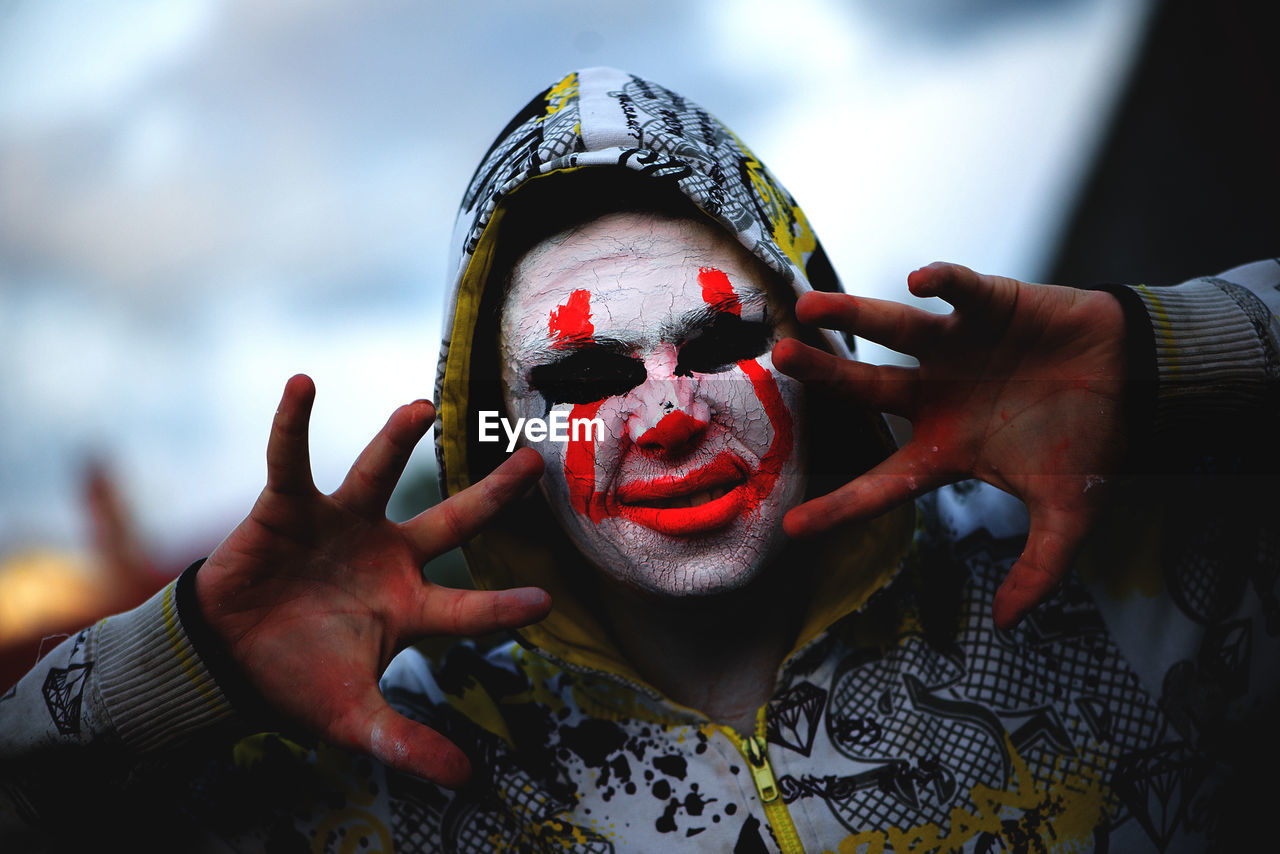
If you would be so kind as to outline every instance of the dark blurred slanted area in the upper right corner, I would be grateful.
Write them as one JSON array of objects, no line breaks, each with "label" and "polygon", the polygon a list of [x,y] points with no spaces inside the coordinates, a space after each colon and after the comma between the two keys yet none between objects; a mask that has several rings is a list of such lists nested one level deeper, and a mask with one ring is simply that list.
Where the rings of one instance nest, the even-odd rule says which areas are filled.
[{"label": "dark blurred slanted area in the upper right corner", "polygon": [[1046,282],[1172,284],[1280,255],[1276,18],[1157,4]]}]

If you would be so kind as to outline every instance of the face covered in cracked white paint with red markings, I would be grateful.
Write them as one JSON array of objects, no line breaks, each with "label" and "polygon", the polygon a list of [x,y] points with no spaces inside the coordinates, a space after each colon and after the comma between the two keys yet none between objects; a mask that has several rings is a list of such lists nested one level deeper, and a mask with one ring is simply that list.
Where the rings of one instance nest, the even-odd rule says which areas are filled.
[{"label": "face covered in cracked white paint with red markings", "polygon": [[603,440],[530,444],[561,525],[627,588],[739,589],[782,544],[805,448],[800,385],[769,357],[788,316],[772,278],[710,224],[640,213],[543,241],[512,271],[508,417],[603,421]]}]

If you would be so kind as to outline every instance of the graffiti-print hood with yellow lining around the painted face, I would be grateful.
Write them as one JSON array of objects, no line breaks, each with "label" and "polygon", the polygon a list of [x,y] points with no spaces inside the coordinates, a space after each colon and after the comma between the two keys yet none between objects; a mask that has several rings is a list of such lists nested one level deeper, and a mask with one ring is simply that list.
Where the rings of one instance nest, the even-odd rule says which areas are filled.
[{"label": "graffiti-print hood with yellow lining around the painted face", "polygon": [[[777,271],[796,296],[841,289],[804,211],[714,117],[689,99],[617,69],[568,74],[507,124],[462,200],[435,388],[435,447],[444,495],[465,489],[500,461],[494,452],[498,446],[476,442],[476,412],[500,408],[494,301],[500,305],[503,282],[490,274],[502,268],[504,247],[518,242],[513,236],[518,229],[504,234],[504,216],[517,207],[521,191],[531,195],[529,187],[536,186],[545,197],[548,187],[617,175],[620,170],[628,170],[632,184],[653,182],[659,192],[691,201]],[[851,337],[823,330],[815,332],[810,343],[840,356],[852,355]],[[893,448],[878,414],[812,396],[809,408],[808,421],[817,425],[810,437],[814,494],[864,471]],[[913,529],[914,510],[904,507],[846,526],[814,547],[822,571],[812,576],[810,606],[800,622],[796,649],[861,608],[893,576]],[[529,584],[552,594],[552,615],[521,630],[522,643],[573,667],[643,681],[577,595],[581,585],[573,584],[575,574],[586,563],[559,531],[540,493],[535,490],[508,508],[465,545],[463,553],[477,588]]]}]

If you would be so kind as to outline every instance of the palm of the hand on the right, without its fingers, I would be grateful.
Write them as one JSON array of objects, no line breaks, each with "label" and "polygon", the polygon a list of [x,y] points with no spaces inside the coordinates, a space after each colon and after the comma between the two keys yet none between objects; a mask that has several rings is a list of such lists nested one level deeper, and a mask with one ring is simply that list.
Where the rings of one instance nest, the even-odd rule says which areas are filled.
[{"label": "palm of the hand on the right, without its fingers", "polygon": [[989,315],[956,311],[919,353],[916,442],[948,449],[947,474],[1075,504],[1121,456],[1121,330],[1098,333],[1123,318],[1105,293],[1004,282]]}]

